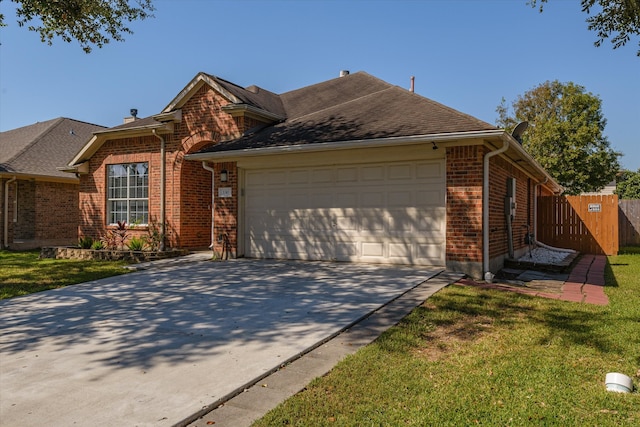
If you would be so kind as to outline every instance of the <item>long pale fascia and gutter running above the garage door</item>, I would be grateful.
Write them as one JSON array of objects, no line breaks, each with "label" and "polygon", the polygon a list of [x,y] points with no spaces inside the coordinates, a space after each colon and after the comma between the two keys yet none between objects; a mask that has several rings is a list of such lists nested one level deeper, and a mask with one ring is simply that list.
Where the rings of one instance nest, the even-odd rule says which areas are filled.
[{"label": "long pale fascia and gutter running above the garage door", "polygon": [[335,141],[335,142],[322,142],[322,143],[310,143],[291,146],[278,146],[278,147],[266,147],[266,148],[250,148],[244,150],[233,151],[220,151],[215,153],[197,153],[187,154],[185,159],[188,160],[218,160],[218,159],[231,159],[242,157],[254,157],[254,156],[267,156],[274,154],[289,154],[289,153],[312,153],[318,151],[328,150],[349,150],[354,148],[375,148],[385,146],[396,145],[414,145],[414,144],[430,144],[432,142],[448,142],[459,141],[461,139],[487,139],[487,138],[500,138],[503,131],[474,131],[474,132],[454,132],[454,133],[441,133],[430,135],[412,135],[412,136],[400,136],[393,138],[377,138],[377,139],[359,139],[351,141]]}]

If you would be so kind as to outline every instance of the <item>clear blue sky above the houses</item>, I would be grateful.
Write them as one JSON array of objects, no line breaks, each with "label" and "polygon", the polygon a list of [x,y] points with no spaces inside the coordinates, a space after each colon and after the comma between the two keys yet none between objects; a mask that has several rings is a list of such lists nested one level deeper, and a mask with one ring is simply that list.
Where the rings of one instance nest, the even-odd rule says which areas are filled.
[{"label": "clear blue sky above the houses", "polygon": [[637,39],[593,46],[578,0],[155,0],[155,18],[85,54],[40,42],[0,2],[0,131],[56,117],[116,126],[160,112],[200,71],[276,93],[366,71],[494,124],[502,97],[547,80],[600,97],[605,135],[640,168]]}]

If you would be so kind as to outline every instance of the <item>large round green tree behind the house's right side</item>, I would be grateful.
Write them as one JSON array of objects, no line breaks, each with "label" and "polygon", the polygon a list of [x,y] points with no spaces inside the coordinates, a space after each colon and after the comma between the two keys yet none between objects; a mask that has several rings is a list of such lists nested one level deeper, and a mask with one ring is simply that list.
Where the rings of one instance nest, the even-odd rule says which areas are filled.
[{"label": "large round green tree behind the house's right side", "polygon": [[569,194],[599,191],[620,169],[621,154],[602,134],[600,98],[580,85],[547,81],[518,96],[511,108],[503,98],[496,111],[497,125],[508,131],[529,123],[523,147]]}]

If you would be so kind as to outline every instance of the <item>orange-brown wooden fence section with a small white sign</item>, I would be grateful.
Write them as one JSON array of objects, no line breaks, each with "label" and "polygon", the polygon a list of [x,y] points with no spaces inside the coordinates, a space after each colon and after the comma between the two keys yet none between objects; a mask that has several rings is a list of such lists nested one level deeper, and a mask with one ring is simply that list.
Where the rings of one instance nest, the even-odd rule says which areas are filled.
[{"label": "orange-brown wooden fence section with a small white sign", "polygon": [[588,254],[618,253],[618,196],[538,199],[538,240]]}]

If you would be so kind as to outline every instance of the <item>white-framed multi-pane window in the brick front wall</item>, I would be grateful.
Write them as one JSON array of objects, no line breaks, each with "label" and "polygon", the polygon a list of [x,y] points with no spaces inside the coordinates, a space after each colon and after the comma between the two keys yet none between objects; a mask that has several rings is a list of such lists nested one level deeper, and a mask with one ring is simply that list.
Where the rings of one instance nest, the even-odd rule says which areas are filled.
[{"label": "white-framed multi-pane window in the brick front wall", "polygon": [[107,166],[109,224],[149,223],[149,163]]}]

